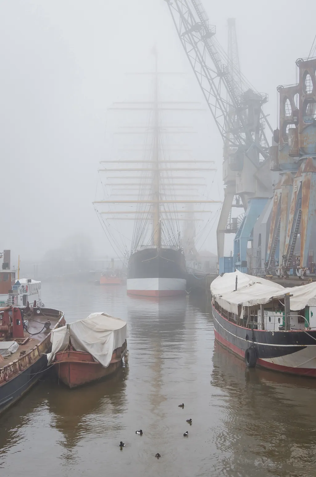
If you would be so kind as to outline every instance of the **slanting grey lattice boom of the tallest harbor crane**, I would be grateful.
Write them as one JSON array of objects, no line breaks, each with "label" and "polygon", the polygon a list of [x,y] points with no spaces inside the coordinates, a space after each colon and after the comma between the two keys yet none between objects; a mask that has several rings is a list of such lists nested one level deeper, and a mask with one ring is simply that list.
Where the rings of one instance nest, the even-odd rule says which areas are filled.
[{"label": "slanting grey lattice boom of the tallest harbor crane", "polygon": [[[166,1],[183,49],[224,142],[229,137],[233,151],[239,146],[247,151],[251,145],[255,145],[258,162],[259,153],[267,158],[266,118],[261,111],[267,96],[255,92],[235,65],[230,64],[214,37],[215,27],[209,25],[200,0]],[[240,84],[243,86],[242,94]],[[260,109],[255,121],[253,115],[249,114],[249,104],[254,102],[256,105],[259,103]],[[234,114],[231,113],[232,108]]]}]

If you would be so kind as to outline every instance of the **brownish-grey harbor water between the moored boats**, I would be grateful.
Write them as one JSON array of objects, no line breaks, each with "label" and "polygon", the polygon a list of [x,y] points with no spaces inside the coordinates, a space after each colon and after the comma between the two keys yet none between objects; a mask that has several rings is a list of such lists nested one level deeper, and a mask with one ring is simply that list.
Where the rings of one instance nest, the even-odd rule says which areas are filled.
[{"label": "brownish-grey harbor water between the moored boats", "polygon": [[43,298],[68,321],[126,319],[129,367],[82,389],[35,386],[0,419],[1,476],[316,475],[316,380],[245,369],[214,343],[203,298],[48,284]]}]

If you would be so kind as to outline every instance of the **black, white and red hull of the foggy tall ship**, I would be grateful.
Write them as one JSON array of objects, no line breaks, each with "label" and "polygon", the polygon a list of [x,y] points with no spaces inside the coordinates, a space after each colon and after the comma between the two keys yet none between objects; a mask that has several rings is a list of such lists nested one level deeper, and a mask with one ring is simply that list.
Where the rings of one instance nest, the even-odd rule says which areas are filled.
[{"label": "black, white and red hull of the foggy tall ship", "polygon": [[186,270],[183,252],[171,248],[146,248],[133,253],[128,262],[126,285],[129,295],[184,295]]}]

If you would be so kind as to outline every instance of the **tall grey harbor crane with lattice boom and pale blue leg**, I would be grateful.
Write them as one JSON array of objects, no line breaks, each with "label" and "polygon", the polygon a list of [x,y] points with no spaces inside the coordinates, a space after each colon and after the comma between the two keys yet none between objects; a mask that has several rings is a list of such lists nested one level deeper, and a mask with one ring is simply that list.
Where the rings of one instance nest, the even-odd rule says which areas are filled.
[{"label": "tall grey harbor crane with lattice boom and pale blue leg", "polygon": [[[247,272],[248,242],[253,242],[255,223],[265,207],[271,207],[269,198],[273,196],[265,125],[271,134],[273,129],[263,112],[268,97],[247,82],[233,52],[230,57],[224,52],[200,0],[165,1],[224,142],[224,202],[217,227],[219,272],[235,268]],[[231,29],[236,48],[234,23]],[[232,218],[232,207],[245,210],[240,224]],[[224,266],[226,233],[236,234],[231,270]]]}]

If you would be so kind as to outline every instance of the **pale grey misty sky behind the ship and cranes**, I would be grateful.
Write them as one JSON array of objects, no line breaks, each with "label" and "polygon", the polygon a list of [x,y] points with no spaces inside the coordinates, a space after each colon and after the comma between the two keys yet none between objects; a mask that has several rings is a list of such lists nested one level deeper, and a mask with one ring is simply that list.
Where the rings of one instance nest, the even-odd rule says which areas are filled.
[{"label": "pale grey misty sky behind the ship and cranes", "polygon": [[[275,128],[276,86],[296,82],[295,61],[316,33],[313,3],[203,3],[225,49],[227,18],[236,18],[242,72],[269,94],[265,113]],[[92,206],[107,109],[139,89],[137,76],[125,73],[152,70],[154,44],[161,70],[187,73],[183,101],[204,106],[165,1],[0,2],[0,251],[37,259],[85,234],[97,256],[111,254]],[[219,169],[217,199],[222,141],[208,112],[196,129],[197,150]],[[215,250],[215,228],[204,248]]]}]

